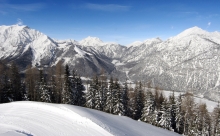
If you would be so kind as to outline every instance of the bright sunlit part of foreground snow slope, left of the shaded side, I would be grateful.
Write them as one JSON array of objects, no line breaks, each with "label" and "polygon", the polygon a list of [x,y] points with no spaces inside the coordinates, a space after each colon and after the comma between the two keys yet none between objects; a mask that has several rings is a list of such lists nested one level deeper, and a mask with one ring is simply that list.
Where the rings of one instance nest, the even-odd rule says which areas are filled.
[{"label": "bright sunlit part of foreground snow slope, left of the shaded side", "polygon": [[33,136],[111,136],[91,120],[68,110],[64,105],[14,102],[2,104],[0,109],[0,126],[3,126],[0,135],[10,130],[16,135],[25,132]]}]

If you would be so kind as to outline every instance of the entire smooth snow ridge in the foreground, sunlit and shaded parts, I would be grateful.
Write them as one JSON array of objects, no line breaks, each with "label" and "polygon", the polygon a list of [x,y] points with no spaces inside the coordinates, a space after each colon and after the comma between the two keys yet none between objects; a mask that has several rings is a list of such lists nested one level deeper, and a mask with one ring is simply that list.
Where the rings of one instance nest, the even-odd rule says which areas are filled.
[{"label": "entire smooth snow ridge in the foreground, sunlit and shaded parts", "polygon": [[64,104],[0,104],[0,136],[176,136],[152,125]]}]

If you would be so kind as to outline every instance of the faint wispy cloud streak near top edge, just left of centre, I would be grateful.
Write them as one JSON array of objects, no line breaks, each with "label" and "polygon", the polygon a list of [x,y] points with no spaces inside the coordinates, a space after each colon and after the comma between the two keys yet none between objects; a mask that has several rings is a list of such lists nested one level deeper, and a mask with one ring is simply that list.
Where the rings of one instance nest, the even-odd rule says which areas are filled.
[{"label": "faint wispy cloud streak near top edge, just left of centre", "polygon": [[87,3],[84,6],[87,9],[91,10],[100,10],[100,11],[128,11],[130,6],[123,6],[117,4],[92,4]]}]

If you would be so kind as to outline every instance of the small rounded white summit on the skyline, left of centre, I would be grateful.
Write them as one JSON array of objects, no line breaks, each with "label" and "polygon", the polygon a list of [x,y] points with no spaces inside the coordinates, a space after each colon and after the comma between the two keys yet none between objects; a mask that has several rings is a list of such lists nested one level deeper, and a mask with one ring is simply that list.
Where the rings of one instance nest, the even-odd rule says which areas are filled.
[{"label": "small rounded white summit on the skyline, left of centre", "polygon": [[84,46],[100,46],[100,45],[103,45],[103,41],[100,40],[99,38],[97,37],[87,37],[83,40],[81,40],[79,42],[81,45],[84,45]]}]

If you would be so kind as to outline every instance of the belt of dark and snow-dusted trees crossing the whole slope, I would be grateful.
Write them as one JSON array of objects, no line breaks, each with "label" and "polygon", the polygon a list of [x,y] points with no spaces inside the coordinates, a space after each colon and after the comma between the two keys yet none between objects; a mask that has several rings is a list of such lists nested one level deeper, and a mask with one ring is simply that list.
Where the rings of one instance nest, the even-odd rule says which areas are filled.
[{"label": "belt of dark and snow-dusted trees crossing the whole slope", "polygon": [[159,88],[136,82],[134,88],[102,73],[87,83],[75,70],[58,62],[55,68],[32,68],[20,74],[17,66],[0,62],[0,103],[40,101],[84,106],[128,116],[183,135],[220,135],[220,106],[208,112],[191,93],[164,97]]}]

